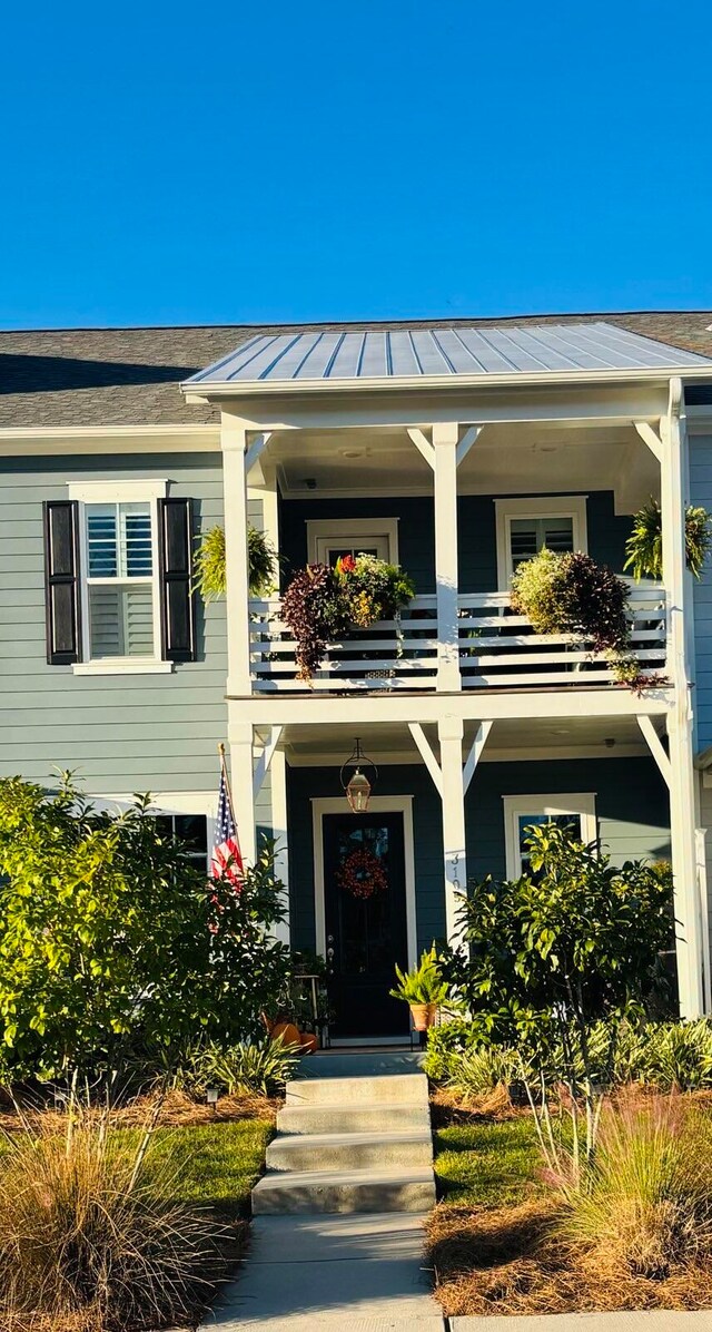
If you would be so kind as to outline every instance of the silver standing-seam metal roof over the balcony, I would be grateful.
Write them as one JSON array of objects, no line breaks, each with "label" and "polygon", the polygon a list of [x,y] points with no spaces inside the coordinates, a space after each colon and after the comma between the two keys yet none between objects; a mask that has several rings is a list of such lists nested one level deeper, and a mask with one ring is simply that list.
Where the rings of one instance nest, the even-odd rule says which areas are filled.
[{"label": "silver standing-seam metal roof over the balcony", "polygon": [[500,328],[373,329],[256,334],[193,374],[185,388],[456,376],[672,370],[712,360],[665,342],[595,324]]}]

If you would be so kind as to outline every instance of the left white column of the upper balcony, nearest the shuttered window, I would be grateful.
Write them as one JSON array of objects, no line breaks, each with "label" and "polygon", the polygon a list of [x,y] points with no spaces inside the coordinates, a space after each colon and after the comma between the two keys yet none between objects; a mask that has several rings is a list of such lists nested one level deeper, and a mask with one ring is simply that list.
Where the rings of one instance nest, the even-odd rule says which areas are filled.
[{"label": "left white column of the upper balcony, nearest the shuttered window", "polygon": [[250,693],[250,623],[248,558],[248,485],[245,428],[222,413],[222,488],[225,496],[225,574],[228,611],[228,694]]}]

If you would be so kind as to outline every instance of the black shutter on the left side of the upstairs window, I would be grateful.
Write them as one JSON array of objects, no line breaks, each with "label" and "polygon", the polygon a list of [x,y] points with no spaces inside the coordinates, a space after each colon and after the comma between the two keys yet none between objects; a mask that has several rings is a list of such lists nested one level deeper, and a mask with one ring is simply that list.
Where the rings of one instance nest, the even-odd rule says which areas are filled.
[{"label": "black shutter on the left side of the upstairs window", "polygon": [[79,563],[77,501],[45,500],[44,583],[47,661],[51,666],[71,666],[81,661]]}]

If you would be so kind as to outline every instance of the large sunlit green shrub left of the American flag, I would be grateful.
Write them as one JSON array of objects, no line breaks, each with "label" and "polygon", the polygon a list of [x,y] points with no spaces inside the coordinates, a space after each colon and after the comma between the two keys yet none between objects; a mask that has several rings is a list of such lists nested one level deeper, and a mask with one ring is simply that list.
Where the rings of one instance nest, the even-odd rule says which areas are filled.
[{"label": "large sunlit green shrub left of the American flag", "polygon": [[[289,950],[274,846],[240,890],[208,880],[137,798],[97,811],[67,779],[0,781],[0,1047],[17,1078],[114,1074],[141,1044],[180,1051],[262,1031]],[[168,1060],[169,1062],[169,1060]],[[110,1076],[109,1076],[110,1080]]]}]

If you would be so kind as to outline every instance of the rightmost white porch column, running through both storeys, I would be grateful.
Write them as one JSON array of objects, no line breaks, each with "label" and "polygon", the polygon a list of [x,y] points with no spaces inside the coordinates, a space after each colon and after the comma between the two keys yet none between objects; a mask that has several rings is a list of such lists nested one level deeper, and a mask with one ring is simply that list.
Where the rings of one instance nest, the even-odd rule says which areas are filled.
[{"label": "rightmost white porch column, running through both storeys", "polygon": [[668,598],[668,673],[675,687],[675,705],[667,719],[671,754],[669,829],[675,915],[680,935],[676,942],[680,1014],[683,1018],[697,1018],[704,1011],[703,959],[707,948],[703,947],[701,938],[695,838],[699,819],[685,626],[685,599],[689,613],[689,597],[685,598],[689,574],[685,565],[687,438],[681,413],[683,388],[680,380],[675,378],[671,380],[668,416],[661,422],[660,468],[663,582]]}]

